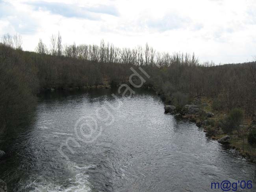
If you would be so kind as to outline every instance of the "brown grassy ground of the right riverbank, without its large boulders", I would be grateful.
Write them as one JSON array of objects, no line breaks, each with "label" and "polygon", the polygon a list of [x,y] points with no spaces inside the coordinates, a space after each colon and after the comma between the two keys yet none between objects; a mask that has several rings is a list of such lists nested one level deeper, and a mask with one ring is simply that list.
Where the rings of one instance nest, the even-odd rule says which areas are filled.
[{"label": "brown grassy ground of the right riverbank, without its large boulders", "polygon": [[213,101],[206,97],[197,98],[193,100],[192,104],[198,106],[198,111],[194,111],[196,113],[183,113],[180,115],[181,118],[195,122],[198,127],[202,127],[206,136],[213,140],[220,140],[228,135],[230,138],[224,144],[236,149],[243,158],[256,163],[256,148],[252,147],[247,140],[250,129],[256,128],[255,121],[250,118],[243,118],[243,123],[239,125],[239,129],[226,134],[220,124],[228,115],[228,111],[214,110]]}]

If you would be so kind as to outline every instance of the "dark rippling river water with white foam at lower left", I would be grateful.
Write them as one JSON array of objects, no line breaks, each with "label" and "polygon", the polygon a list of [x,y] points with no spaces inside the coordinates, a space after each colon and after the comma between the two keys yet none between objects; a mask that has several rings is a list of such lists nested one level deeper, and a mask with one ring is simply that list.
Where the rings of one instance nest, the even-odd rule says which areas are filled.
[{"label": "dark rippling river water with white foam at lower left", "polygon": [[223,180],[251,180],[245,191],[255,191],[254,164],[194,123],[164,114],[158,96],[113,92],[41,95],[32,120],[0,142],[8,191],[206,192],[221,191],[211,182]]}]

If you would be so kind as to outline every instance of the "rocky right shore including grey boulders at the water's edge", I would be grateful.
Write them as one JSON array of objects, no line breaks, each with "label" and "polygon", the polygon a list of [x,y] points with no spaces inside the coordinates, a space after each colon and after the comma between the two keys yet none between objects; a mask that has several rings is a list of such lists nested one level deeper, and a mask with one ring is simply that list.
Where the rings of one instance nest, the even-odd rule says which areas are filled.
[{"label": "rocky right shore including grey boulders at the water's edge", "polygon": [[207,137],[217,140],[229,148],[236,149],[243,158],[256,162],[256,148],[250,146],[247,142],[247,134],[250,129],[256,129],[256,120],[245,119],[243,121],[243,124],[239,126],[243,130],[242,137],[238,133],[224,133],[219,124],[226,113],[224,111],[214,111],[211,107],[211,100],[208,98],[196,98],[190,105],[185,105],[182,108],[165,105],[164,109],[166,114],[195,122],[198,127],[203,129]]}]

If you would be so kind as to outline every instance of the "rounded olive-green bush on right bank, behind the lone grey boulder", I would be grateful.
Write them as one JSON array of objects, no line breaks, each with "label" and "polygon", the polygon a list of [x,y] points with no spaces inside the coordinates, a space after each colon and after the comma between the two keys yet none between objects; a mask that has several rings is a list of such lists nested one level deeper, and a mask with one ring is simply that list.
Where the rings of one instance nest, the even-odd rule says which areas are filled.
[{"label": "rounded olive-green bush on right bank, behind the lone grey boulder", "polygon": [[230,111],[228,116],[221,121],[221,128],[224,133],[232,133],[234,129],[239,131],[239,125],[243,122],[243,111],[238,108],[234,108]]}]

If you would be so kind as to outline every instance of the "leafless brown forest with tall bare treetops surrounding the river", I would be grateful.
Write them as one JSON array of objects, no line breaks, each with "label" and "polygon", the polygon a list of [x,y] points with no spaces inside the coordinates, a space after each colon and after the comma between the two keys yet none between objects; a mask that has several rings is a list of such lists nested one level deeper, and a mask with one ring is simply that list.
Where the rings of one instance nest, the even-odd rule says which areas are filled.
[{"label": "leafless brown forest with tall bare treetops surrounding the river", "polygon": [[41,39],[34,52],[22,50],[19,35],[6,34],[0,43],[0,129],[11,118],[21,118],[47,89],[86,89],[127,83],[130,67],[141,66],[150,79],[145,87],[154,89],[166,103],[186,105],[206,96],[215,108],[236,107],[247,118],[256,114],[256,62],[215,65],[199,62],[195,54],[157,52],[148,46],[118,48],[100,45],[63,45],[60,33],[50,37],[48,48]]}]

